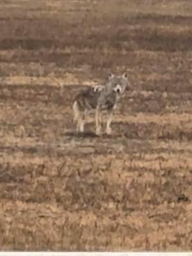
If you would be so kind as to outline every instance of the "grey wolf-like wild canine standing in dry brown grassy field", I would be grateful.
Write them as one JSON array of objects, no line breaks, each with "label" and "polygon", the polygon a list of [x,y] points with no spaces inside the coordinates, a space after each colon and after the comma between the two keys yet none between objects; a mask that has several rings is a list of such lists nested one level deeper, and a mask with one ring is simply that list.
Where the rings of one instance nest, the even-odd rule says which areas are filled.
[{"label": "grey wolf-like wild canine standing in dry brown grassy field", "polygon": [[84,121],[88,113],[95,110],[96,134],[102,129],[102,112],[107,112],[106,133],[111,134],[111,122],[116,103],[125,92],[129,80],[127,74],[115,76],[109,74],[108,83],[97,85],[81,91],[74,100],[74,122],[77,122],[77,132],[84,132]]}]

